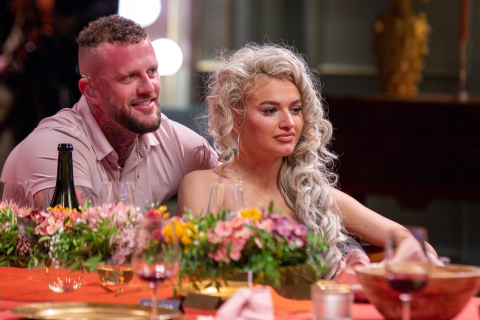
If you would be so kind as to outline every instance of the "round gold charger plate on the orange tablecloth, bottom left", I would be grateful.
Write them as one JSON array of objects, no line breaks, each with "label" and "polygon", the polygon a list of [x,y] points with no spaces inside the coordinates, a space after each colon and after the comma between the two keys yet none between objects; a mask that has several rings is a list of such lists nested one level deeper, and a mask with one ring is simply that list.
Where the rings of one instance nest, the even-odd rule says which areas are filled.
[{"label": "round gold charger plate on the orange tablecloth, bottom left", "polygon": [[[135,304],[83,303],[83,302],[41,302],[30,303],[10,309],[10,312],[35,320],[144,320],[150,318],[150,307]],[[157,308],[157,319],[179,319],[178,310]]]}]

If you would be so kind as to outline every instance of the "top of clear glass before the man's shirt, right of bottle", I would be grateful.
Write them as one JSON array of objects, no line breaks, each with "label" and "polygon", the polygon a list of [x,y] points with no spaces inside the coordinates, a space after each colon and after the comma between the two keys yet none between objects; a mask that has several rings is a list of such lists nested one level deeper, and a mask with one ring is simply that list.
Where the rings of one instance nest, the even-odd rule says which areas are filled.
[{"label": "top of clear glass before the man's shirt, right of bottle", "polygon": [[131,181],[103,181],[100,184],[98,192],[98,205],[103,204],[123,204],[135,205],[133,196],[133,182]]}]

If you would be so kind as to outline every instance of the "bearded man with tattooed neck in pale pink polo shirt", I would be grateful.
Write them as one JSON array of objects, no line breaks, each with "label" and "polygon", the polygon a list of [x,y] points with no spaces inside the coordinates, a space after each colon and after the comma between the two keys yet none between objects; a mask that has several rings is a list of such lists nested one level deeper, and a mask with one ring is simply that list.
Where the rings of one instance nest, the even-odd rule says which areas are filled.
[{"label": "bearded man with tattooed neck in pale pink polo shirt", "polygon": [[72,143],[80,203],[96,203],[100,182],[118,180],[133,181],[135,204],[146,206],[174,195],[186,173],[217,165],[206,139],[160,113],[158,62],[145,29],[109,15],[90,22],[77,43],[82,96],[12,150],[1,180],[26,180],[35,206],[47,207],[57,145]]}]

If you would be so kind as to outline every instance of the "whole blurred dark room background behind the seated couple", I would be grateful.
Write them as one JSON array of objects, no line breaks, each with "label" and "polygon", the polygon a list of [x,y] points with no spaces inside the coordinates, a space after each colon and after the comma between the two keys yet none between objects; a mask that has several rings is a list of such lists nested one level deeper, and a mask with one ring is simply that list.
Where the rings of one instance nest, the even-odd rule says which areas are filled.
[{"label": "whole blurred dark room background behind the seated couple", "polygon": [[74,38],[98,16],[146,27],[162,111],[198,132],[216,50],[285,43],[318,72],[340,188],[426,226],[440,255],[480,264],[480,0],[0,3],[0,168],[39,120],[79,98]]}]

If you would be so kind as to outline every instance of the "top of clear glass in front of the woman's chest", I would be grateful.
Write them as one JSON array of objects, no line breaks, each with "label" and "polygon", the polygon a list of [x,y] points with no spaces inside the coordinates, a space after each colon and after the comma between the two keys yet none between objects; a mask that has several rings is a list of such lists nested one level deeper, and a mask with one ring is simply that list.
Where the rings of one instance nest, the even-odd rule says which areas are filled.
[{"label": "top of clear glass in front of the woman's chest", "polygon": [[245,208],[243,191],[237,183],[212,183],[206,205],[206,213],[225,211],[227,216]]}]

